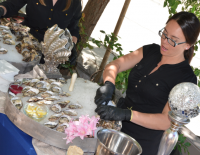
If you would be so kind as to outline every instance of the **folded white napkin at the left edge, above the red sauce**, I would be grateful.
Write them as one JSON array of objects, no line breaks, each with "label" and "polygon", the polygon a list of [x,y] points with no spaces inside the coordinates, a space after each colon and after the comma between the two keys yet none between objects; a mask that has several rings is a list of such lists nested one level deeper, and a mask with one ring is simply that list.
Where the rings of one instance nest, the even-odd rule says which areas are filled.
[{"label": "folded white napkin at the left edge, above the red sauce", "polygon": [[9,84],[14,81],[14,76],[19,70],[5,60],[0,60],[0,91],[7,92]]}]

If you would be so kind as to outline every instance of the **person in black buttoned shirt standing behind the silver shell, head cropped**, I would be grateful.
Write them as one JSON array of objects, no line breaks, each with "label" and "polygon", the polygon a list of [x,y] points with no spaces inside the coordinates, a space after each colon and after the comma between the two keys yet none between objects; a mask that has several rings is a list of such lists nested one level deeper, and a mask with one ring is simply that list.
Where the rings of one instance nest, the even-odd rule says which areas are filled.
[{"label": "person in black buttoned shirt standing behind the silver shell, head cropped", "polygon": [[[27,4],[27,5],[26,5]],[[23,25],[30,27],[30,33],[43,41],[45,31],[55,24],[61,29],[68,28],[76,44],[79,38],[79,19],[81,18],[81,0],[7,0],[0,3],[0,17],[12,17],[26,5],[26,17]],[[76,50],[70,57],[75,64]],[[41,63],[44,63],[43,60]]]}]

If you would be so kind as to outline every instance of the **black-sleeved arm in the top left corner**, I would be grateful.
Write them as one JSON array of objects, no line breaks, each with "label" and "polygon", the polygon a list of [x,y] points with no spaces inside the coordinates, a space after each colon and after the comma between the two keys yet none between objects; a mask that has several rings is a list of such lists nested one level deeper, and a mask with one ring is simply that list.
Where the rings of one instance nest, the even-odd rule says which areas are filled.
[{"label": "black-sleeved arm in the top left corner", "polygon": [[4,17],[12,17],[17,15],[25,4],[27,4],[27,0],[7,0],[0,3],[0,7],[4,9]]}]

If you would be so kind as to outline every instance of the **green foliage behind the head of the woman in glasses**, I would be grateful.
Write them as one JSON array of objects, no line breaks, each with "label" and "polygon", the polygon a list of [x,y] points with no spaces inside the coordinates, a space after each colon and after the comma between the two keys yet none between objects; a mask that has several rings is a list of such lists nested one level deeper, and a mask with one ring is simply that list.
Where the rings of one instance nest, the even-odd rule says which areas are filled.
[{"label": "green foliage behind the head of the woman in glasses", "polygon": [[[165,0],[164,7],[168,8],[169,17],[177,13],[178,6],[182,6],[182,11],[188,11],[194,13],[200,20],[200,3],[199,0]],[[200,45],[200,40],[198,40],[194,45],[194,50],[198,51],[198,45]],[[194,53],[195,56],[196,53]],[[193,68],[193,67],[192,67]],[[200,70],[199,68],[193,68],[194,74],[198,77],[198,86],[200,87]]]}]

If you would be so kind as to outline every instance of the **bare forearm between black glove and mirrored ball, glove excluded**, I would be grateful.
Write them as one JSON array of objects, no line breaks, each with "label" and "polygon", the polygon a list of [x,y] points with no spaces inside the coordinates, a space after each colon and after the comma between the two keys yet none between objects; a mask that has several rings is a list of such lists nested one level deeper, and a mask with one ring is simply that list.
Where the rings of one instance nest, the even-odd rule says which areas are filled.
[{"label": "bare forearm between black glove and mirrored ball, glove excluded", "polygon": [[132,110],[131,122],[141,125],[145,128],[154,130],[166,130],[170,127],[168,112],[170,111],[169,103],[165,105],[161,114],[147,114]]}]

